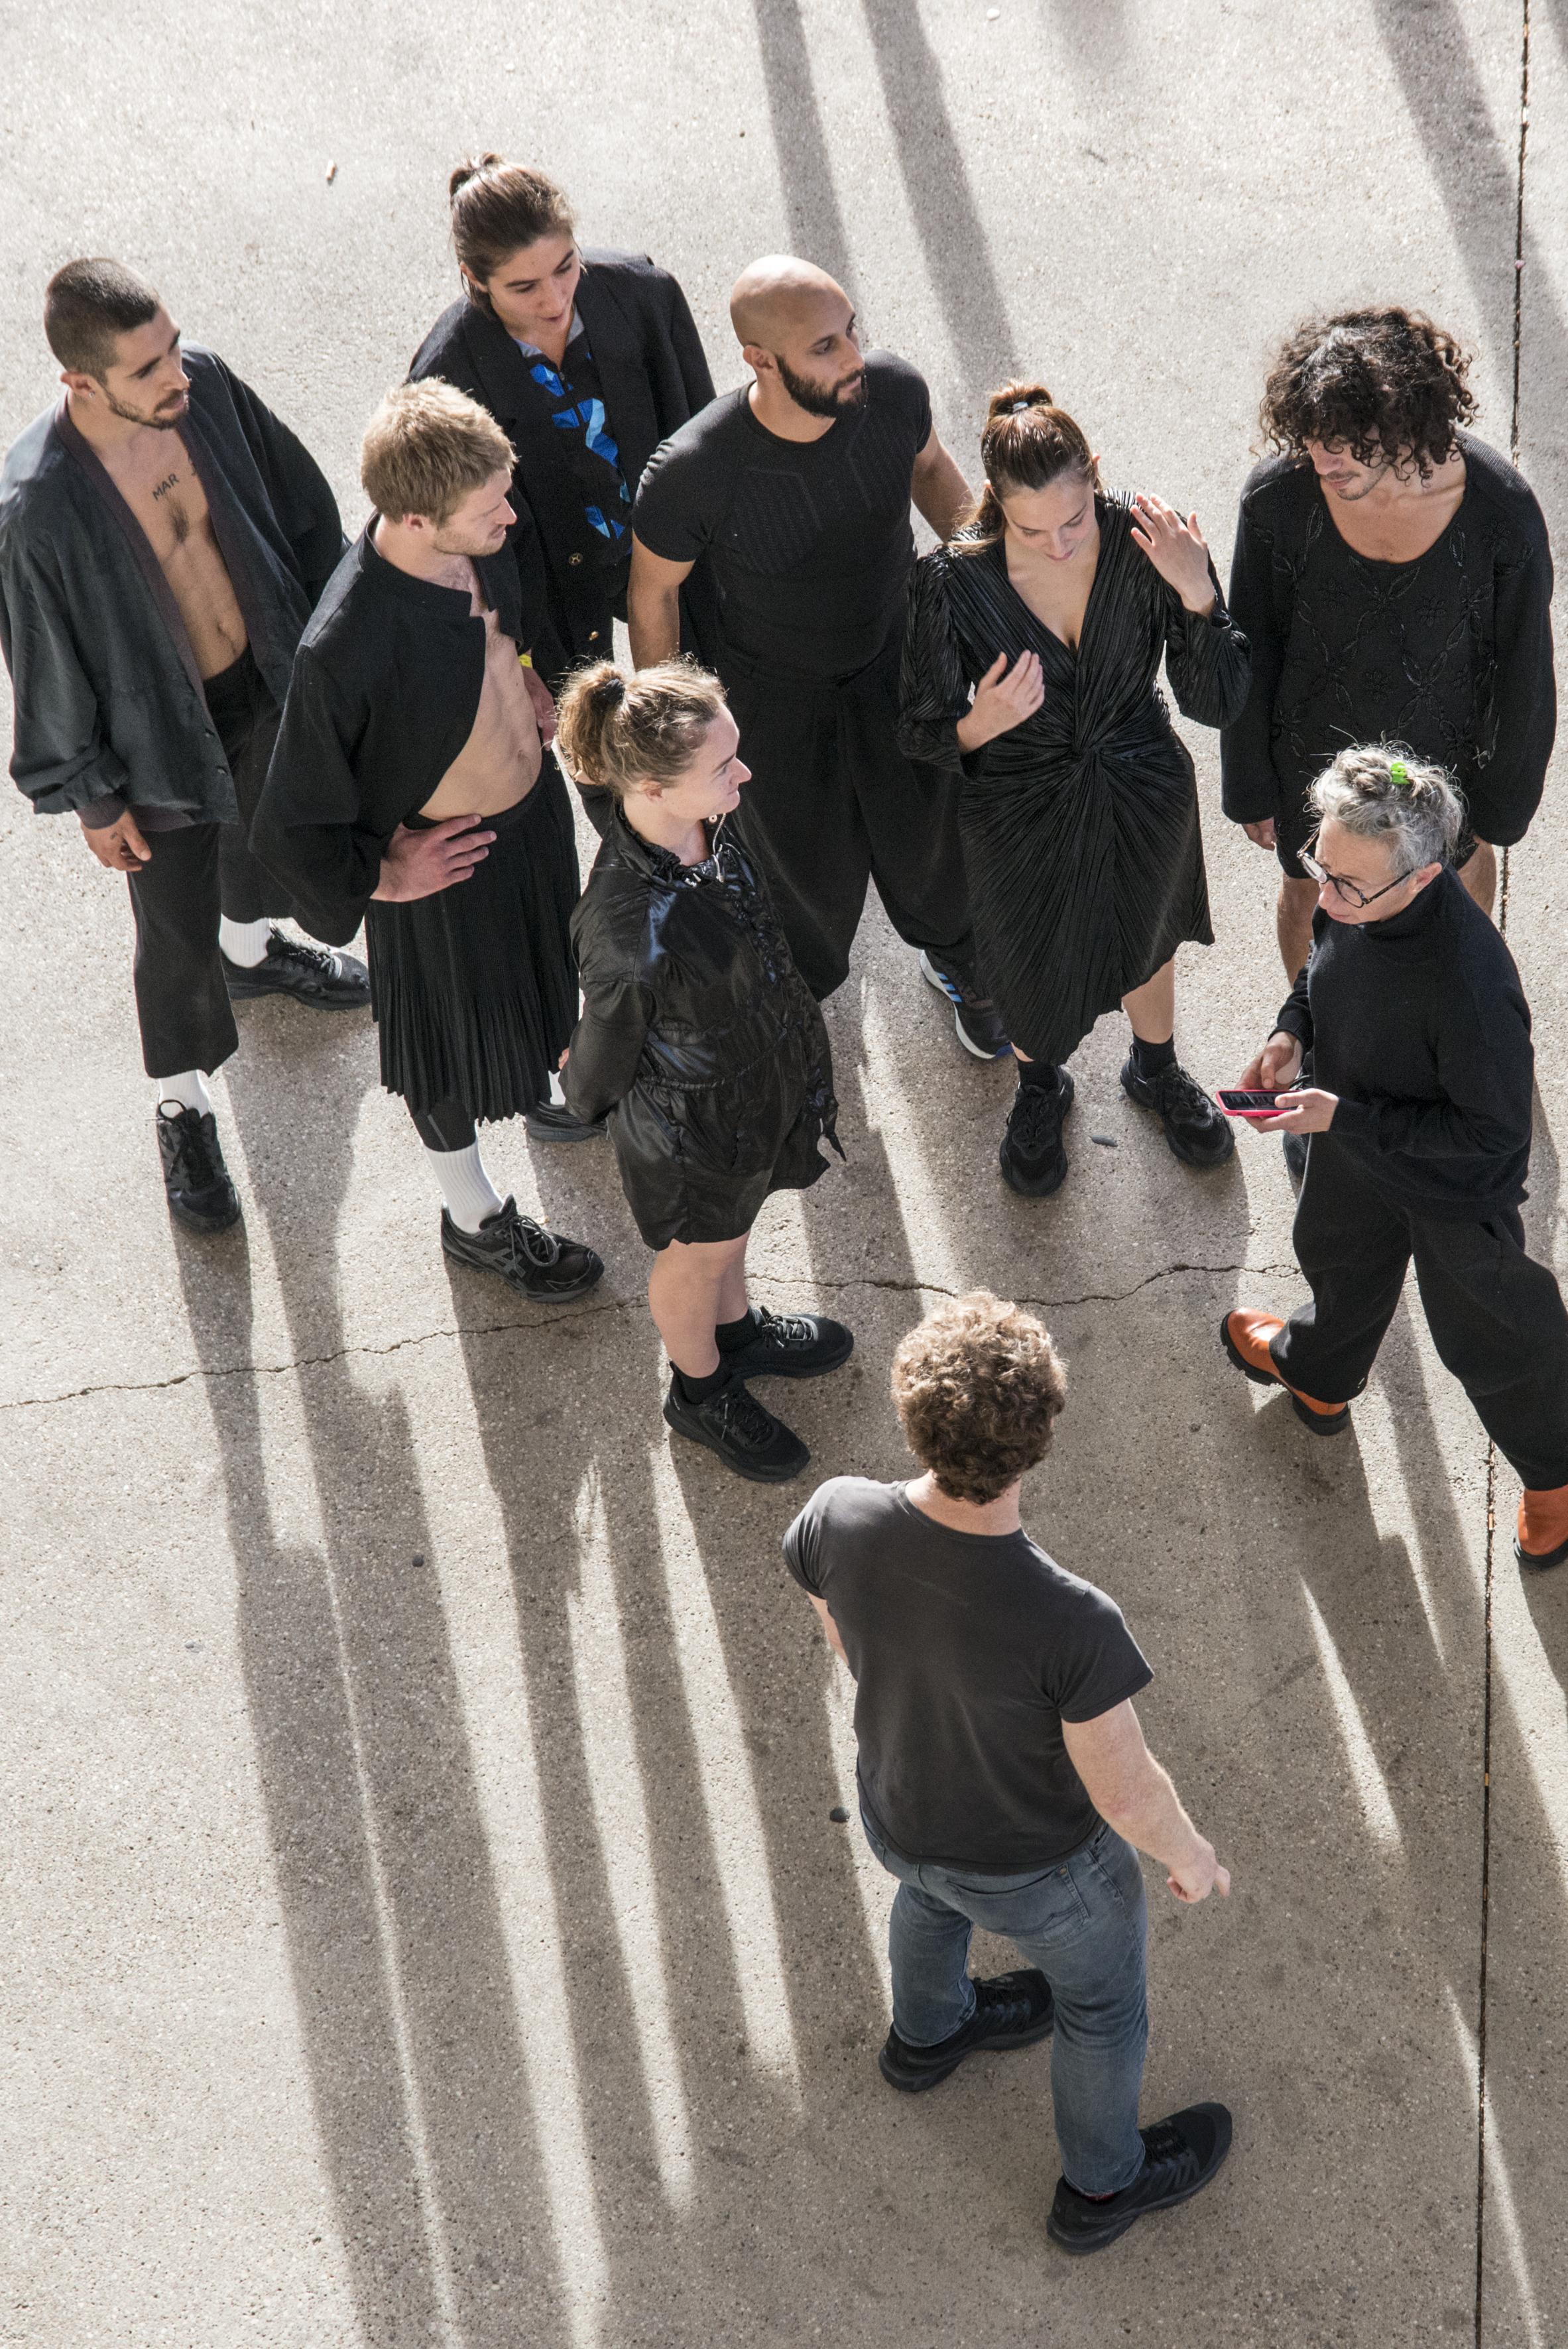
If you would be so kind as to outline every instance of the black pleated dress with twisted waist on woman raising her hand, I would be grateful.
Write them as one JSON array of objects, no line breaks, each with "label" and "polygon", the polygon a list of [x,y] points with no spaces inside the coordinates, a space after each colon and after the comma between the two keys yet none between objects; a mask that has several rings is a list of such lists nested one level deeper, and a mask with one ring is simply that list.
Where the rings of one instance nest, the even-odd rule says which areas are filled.
[{"label": "black pleated dress with twisted waist on woman raising her hand", "polygon": [[[1164,660],[1178,709],[1202,726],[1235,719],[1249,681],[1218,578],[1197,620],[1134,543],[1131,500],[1094,503],[1101,552],[1077,653],[1033,615],[1000,545],[927,554],[904,639],[899,742],[962,775],[981,970],[1012,1041],[1049,1062],[1183,940],[1214,944],[1192,759],[1155,679]],[[1038,653],[1045,700],[965,754],[958,721],[998,653]]]}]

